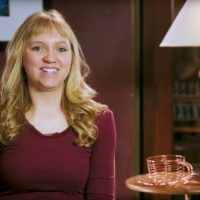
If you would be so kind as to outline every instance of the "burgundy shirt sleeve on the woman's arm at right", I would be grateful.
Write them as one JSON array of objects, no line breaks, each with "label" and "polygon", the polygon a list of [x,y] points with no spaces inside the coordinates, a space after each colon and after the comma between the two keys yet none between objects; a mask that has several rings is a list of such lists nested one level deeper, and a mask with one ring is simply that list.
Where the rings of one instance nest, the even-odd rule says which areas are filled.
[{"label": "burgundy shirt sleeve on the woman's arm at right", "polygon": [[113,112],[98,117],[98,138],[91,160],[86,200],[112,200],[115,196],[116,128]]}]

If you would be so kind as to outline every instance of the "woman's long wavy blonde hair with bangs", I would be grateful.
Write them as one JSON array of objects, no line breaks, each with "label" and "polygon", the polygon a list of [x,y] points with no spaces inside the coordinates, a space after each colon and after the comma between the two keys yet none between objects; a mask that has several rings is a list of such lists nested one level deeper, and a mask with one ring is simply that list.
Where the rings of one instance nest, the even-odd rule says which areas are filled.
[{"label": "woman's long wavy blonde hair with bangs", "polygon": [[62,109],[75,130],[75,143],[89,147],[97,138],[96,116],[106,108],[94,101],[96,91],[86,82],[89,74],[81,47],[65,18],[56,10],[41,11],[29,16],[15,32],[6,53],[6,67],[0,84],[0,142],[9,144],[26,123],[25,113],[32,105],[22,56],[26,41],[33,35],[51,31],[68,37],[72,49],[72,65],[62,96]]}]

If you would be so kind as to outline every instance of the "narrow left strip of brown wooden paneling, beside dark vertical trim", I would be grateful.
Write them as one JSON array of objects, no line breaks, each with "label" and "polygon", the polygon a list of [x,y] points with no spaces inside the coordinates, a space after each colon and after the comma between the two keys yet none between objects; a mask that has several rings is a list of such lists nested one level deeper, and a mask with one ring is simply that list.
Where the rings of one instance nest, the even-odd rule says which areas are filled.
[{"label": "narrow left strip of brown wooden paneling, beside dark vertical trim", "polygon": [[152,1],[142,1],[142,97],[143,97],[143,159],[154,152],[155,143],[155,56],[153,51],[155,18]]}]

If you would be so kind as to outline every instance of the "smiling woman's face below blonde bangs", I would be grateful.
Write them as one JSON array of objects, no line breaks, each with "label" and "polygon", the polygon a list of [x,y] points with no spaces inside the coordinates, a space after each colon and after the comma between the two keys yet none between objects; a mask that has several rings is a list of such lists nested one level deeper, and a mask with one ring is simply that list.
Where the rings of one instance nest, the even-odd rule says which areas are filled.
[{"label": "smiling woman's face below blonde bangs", "polygon": [[29,89],[63,89],[72,62],[70,42],[55,29],[32,36],[25,46],[22,62]]}]

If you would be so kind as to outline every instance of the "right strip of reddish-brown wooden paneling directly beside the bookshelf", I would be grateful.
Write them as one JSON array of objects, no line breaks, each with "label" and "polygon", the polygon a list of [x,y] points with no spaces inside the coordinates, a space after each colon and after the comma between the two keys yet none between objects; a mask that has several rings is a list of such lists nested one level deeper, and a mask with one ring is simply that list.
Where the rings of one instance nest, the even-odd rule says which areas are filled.
[{"label": "right strip of reddish-brown wooden paneling directly beside the bookshelf", "polygon": [[172,49],[159,47],[171,24],[171,4],[156,1],[156,148],[155,153],[172,152]]}]

